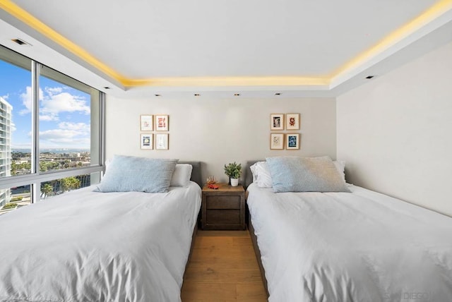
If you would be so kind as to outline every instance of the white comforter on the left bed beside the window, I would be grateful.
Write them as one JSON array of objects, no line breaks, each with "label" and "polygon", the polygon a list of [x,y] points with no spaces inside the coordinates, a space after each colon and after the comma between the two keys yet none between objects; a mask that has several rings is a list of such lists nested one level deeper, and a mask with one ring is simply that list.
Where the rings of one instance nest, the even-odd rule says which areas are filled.
[{"label": "white comforter on the left bed beside the window", "polygon": [[180,301],[201,188],[93,187],[0,217],[0,301]]}]

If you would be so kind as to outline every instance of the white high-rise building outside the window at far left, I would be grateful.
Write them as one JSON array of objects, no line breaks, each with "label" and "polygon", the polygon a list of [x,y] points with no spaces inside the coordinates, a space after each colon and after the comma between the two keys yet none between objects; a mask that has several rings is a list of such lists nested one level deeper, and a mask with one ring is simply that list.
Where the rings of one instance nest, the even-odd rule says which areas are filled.
[{"label": "white high-rise building outside the window at far left", "polygon": [[[13,107],[0,97],[0,177],[11,176],[11,111]],[[0,190],[0,206],[11,200],[11,189]]]}]

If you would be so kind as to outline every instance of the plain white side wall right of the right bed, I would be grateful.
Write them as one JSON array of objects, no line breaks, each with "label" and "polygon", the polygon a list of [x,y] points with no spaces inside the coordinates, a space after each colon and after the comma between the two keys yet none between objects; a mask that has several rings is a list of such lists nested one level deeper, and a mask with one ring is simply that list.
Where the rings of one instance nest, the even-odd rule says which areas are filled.
[{"label": "plain white side wall right of the right bed", "polygon": [[452,43],[337,98],[347,181],[452,215]]}]

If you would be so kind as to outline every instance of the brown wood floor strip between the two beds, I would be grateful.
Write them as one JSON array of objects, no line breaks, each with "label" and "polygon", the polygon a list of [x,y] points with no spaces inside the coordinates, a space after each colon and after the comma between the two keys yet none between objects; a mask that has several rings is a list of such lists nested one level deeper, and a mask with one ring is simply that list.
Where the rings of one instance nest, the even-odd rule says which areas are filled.
[{"label": "brown wood floor strip between the two beds", "polygon": [[248,231],[198,231],[182,302],[267,301]]}]

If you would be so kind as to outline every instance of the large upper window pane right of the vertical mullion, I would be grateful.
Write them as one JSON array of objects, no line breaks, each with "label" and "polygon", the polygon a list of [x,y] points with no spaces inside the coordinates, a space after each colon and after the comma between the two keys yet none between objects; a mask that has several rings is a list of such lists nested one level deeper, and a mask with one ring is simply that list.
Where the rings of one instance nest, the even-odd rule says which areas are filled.
[{"label": "large upper window pane right of the vertical mullion", "polygon": [[39,83],[40,171],[90,166],[90,115],[99,92],[45,66]]}]

